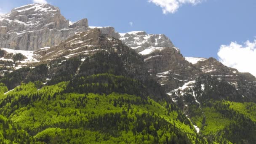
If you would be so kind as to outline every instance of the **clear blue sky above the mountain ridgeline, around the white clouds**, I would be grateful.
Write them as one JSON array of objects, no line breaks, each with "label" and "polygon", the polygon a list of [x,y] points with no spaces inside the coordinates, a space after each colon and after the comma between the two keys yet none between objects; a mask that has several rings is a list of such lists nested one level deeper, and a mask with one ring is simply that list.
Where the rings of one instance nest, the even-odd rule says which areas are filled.
[{"label": "clear blue sky above the mountain ridgeline, around the white clouds", "polygon": [[[232,42],[237,42],[241,48],[246,48],[247,40],[254,43],[256,39],[256,0],[149,1],[47,0],[59,7],[61,14],[71,21],[88,18],[90,26],[112,26],[118,32],[163,33],[184,56],[221,59],[218,56],[221,45],[229,47]],[[166,2],[178,2],[179,8],[174,8],[174,13],[165,11],[164,14],[163,9],[170,8],[164,7]],[[0,0],[0,12],[29,3],[33,0]],[[227,55],[229,53],[224,56]]]}]

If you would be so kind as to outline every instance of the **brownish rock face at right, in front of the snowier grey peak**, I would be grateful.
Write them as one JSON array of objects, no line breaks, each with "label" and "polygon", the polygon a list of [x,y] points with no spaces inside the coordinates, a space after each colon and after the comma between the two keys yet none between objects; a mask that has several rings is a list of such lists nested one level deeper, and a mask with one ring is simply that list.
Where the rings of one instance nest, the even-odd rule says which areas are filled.
[{"label": "brownish rock face at right, in front of the snowier grey peak", "polygon": [[[179,96],[189,88],[194,88],[198,77],[208,75],[219,82],[229,83],[233,88],[232,93],[237,93],[240,100],[256,101],[256,78],[250,73],[240,73],[237,69],[229,68],[214,58],[199,59],[192,64],[174,49],[163,48],[144,55],[144,61],[149,73],[165,88],[172,99],[179,99]],[[204,79],[201,79],[200,83],[208,84]],[[225,96],[223,95],[223,99]]]}]

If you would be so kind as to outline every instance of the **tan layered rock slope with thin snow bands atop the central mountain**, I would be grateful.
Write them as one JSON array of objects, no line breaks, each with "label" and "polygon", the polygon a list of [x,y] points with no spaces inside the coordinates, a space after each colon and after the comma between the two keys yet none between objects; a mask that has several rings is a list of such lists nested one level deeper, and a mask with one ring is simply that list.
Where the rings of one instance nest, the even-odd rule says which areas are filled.
[{"label": "tan layered rock slope with thin snow bands atop the central mountain", "polygon": [[40,61],[49,61],[54,58],[64,57],[68,59],[82,54],[88,55],[98,51],[105,51],[99,47],[102,47],[102,43],[107,43],[107,38],[100,38],[101,36],[99,29],[90,29],[69,37],[59,45],[51,48],[41,48],[34,53],[40,55],[37,58]]}]

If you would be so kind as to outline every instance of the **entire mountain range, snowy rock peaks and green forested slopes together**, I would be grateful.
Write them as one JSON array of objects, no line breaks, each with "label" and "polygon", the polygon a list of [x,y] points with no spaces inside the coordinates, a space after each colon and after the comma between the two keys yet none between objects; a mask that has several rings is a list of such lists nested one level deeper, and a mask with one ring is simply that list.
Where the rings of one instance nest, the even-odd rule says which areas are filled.
[{"label": "entire mountain range, snowy rock peaks and green forested slopes together", "polygon": [[163,34],[31,4],[0,17],[0,47],[1,143],[256,141],[256,78]]}]

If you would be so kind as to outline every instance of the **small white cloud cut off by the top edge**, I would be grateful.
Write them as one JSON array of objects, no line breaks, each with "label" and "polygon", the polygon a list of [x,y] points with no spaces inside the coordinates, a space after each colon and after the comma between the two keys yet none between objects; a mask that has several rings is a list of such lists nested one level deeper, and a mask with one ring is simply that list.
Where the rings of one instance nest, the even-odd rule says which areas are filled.
[{"label": "small white cloud cut off by the top edge", "polygon": [[163,13],[175,13],[178,8],[183,4],[196,5],[201,3],[203,0],[148,0],[149,3],[155,3],[163,9]]}]

